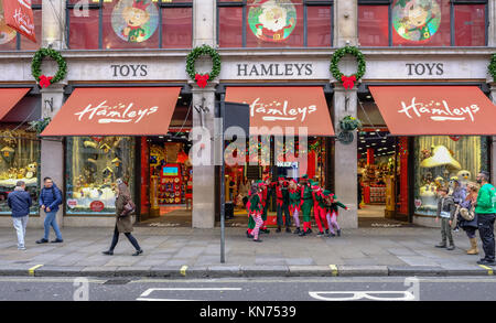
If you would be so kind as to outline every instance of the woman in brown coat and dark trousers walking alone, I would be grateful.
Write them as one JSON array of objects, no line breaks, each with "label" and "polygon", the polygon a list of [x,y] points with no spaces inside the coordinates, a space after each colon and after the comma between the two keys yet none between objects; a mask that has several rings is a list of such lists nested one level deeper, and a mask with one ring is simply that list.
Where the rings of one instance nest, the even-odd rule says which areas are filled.
[{"label": "woman in brown coat and dark trousers walking alone", "polygon": [[131,235],[132,232],[132,217],[131,213],[134,212],[134,204],[131,200],[131,193],[128,186],[121,180],[117,180],[117,198],[116,198],[116,227],[114,229],[114,238],[110,248],[104,251],[104,255],[114,255],[114,249],[119,241],[119,235],[125,234],[131,245],[136,248],[136,252],[132,256],[139,256],[143,254],[138,240]]}]

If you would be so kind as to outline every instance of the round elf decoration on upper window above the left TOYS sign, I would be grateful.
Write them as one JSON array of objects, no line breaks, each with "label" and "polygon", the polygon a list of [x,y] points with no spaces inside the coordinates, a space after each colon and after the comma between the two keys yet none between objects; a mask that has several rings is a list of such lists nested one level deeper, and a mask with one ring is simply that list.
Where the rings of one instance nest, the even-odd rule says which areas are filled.
[{"label": "round elf decoration on upper window above the left TOYS sign", "polygon": [[120,0],[112,10],[112,29],[129,43],[141,43],[159,25],[159,11],[151,0]]}]

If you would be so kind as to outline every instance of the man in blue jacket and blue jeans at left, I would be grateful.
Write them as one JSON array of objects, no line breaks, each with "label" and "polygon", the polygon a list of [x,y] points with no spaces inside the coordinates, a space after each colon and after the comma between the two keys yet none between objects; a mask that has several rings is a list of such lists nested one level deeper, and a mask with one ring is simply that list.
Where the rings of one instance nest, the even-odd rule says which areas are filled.
[{"label": "man in blue jacket and blue jeans at left", "polygon": [[51,177],[43,179],[43,189],[40,192],[40,208],[45,212],[45,220],[43,223],[45,228],[45,234],[42,239],[37,240],[36,244],[46,244],[50,237],[50,227],[53,227],[55,232],[55,240],[51,243],[60,244],[64,240],[62,239],[61,229],[57,225],[57,211],[58,205],[62,204],[62,191],[55,185]]}]

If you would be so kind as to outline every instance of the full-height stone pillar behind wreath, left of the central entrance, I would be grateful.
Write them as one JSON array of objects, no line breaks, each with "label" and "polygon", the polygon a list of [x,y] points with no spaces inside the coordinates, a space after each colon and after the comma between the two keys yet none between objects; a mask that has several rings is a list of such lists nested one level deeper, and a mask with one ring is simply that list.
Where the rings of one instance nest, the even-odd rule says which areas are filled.
[{"label": "full-height stone pillar behind wreath, left of the central entrance", "polygon": [[[203,44],[215,47],[216,45],[216,1],[194,0],[193,2],[193,46]],[[212,68],[209,60],[198,60],[196,64],[198,72],[207,72]],[[195,83],[191,83],[193,93],[193,106],[204,107],[203,112],[193,109],[193,127],[202,127],[205,134],[214,138],[215,118],[215,86],[209,82],[207,87],[198,88]],[[206,137],[205,136],[205,137]],[[203,138],[204,140],[208,138]],[[201,157],[193,155],[193,219],[194,228],[213,228],[215,225],[215,164],[214,164],[214,141],[205,142]],[[198,147],[198,141],[193,141],[193,148]],[[192,149],[194,150],[194,149]],[[209,151],[207,151],[209,150]],[[195,159],[201,159],[202,164],[197,164]]]}]

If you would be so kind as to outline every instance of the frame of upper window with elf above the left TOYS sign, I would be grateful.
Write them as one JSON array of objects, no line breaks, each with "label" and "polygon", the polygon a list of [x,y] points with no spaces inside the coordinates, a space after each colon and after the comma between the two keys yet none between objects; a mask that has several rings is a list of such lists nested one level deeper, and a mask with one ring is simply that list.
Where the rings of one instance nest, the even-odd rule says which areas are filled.
[{"label": "frame of upper window with elf above the left TOYS sign", "polygon": [[[108,2],[106,0],[98,0],[98,1],[94,1],[94,0],[89,0],[89,10],[98,10],[98,49],[96,50],[103,50],[104,49],[104,2]],[[163,29],[162,29],[162,9],[164,8],[191,8],[193,11],[193,1],[191,0],[190,2],[162,2],[162,0],[157,0],[157,4],[158,4],[158,9],[159,9],[159,46],[157,47],[158,50],[163,50],[163,44],[162,44],[162,35],[163,35]],[[69,3],[69,0],[66,0],[66,46],[67,50],[71,50],[71,44],[69,44],[69,36],[71,36],[71,13],[69,10],[74,9],[75,3]],[[193,14],[192,14],[192,20],[191,20],[191,24],[193,25]],[[191,43],[193,45],[193,32],[191,34]],[[80,49],[80,51],[84,50],[88,50],[88,49]],[[127,49],[130,51],[141,51],[143,49]],[[155,47],[153,49],[147,49],[147,50],[155,50]],[[170,50],[170,49],[165,49],[165,50]]]}]

